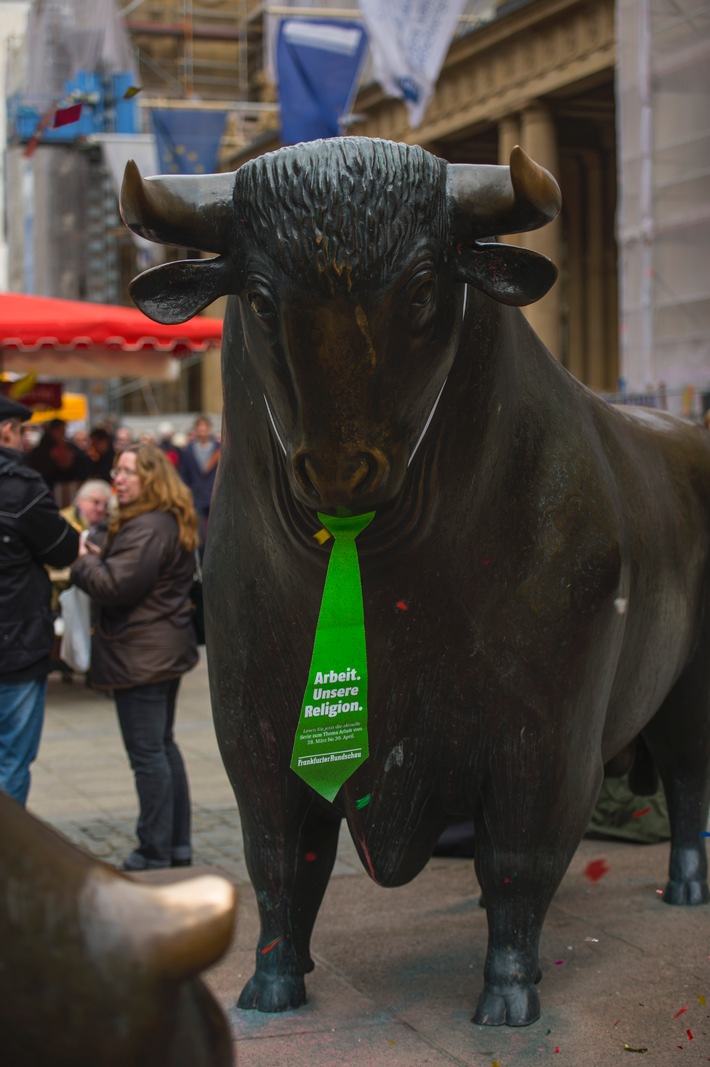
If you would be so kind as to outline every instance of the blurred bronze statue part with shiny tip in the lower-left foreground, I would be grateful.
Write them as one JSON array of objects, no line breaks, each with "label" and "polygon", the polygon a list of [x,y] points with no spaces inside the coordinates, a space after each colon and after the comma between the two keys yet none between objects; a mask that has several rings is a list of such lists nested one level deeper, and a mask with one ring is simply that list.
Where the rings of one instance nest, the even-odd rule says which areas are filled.
[{"label": "blurred bronze statue part with shiny tip in the lower-left foreground", "polygon": [[131,880],[0,793],[4,1067],[232,1067],[198,977],[230,944],[223,878]]}]

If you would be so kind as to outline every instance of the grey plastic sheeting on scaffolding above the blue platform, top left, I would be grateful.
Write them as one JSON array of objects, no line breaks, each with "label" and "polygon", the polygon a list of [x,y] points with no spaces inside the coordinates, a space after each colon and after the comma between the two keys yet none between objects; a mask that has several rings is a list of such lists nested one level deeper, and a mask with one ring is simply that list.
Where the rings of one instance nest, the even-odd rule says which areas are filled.
[{"label": "grey plastic sheeting on scaffolding above the blue platform, top left", "polygon": [[115,0],[35,0],[28,23],[27,84],[50,107],[79,71],[135,74],[128,34]]}]

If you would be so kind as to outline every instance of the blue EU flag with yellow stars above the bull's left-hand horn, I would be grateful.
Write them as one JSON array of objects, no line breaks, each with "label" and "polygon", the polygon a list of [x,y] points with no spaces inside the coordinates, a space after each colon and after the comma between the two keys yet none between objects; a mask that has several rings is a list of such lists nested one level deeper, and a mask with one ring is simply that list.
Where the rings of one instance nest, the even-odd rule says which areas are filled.
[{"label": "blue EU flag with yellow stars above the bull's left-hand horn", "polygon": [[226,111],[153,108],[160,174],[215,174]]}]

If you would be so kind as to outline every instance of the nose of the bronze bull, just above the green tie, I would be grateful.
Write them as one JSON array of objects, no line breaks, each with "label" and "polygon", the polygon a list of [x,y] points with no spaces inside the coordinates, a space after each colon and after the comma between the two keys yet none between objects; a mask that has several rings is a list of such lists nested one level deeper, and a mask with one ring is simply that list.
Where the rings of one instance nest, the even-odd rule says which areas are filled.
[{"label": "nose of the bronze bull, just above the green tie", "polygon": [[376,490],[389,472],[380,451],[320,457],[306,449],[294,456],[294,473],[306,496],[319,504],[348,504]]}]

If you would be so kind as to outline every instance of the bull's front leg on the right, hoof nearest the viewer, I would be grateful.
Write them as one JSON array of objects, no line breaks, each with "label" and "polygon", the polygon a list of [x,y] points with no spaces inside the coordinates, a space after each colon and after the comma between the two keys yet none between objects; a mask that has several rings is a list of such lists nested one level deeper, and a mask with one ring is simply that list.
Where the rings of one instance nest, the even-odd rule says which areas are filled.
[{"label": "bull's front leg on the right, hoof nearest the viewer", "polygon": [[522,752],[507,767],[499,764],[475,823],[488,952],[473,1021],[489,1026],[526,1026],[539,1018],[542,923],[601,784],[601,764],[590,770],[569,753],[550,753],[548,766],[554,775],[535,774]]}]

